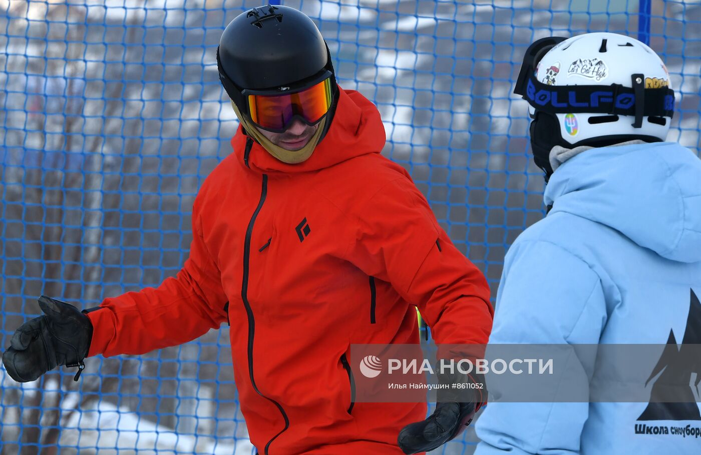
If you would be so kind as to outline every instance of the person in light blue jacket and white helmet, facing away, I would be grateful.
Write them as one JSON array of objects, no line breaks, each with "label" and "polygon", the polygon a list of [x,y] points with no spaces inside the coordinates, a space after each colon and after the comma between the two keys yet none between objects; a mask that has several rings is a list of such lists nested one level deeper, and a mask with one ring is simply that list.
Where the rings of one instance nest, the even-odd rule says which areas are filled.
[{"label": "person in light blue jacket and white helmet, facing away", "polygon": [[[541,39],[515,93],[548,213],[506,255],[489,343],[701,344],[701,160],[662,142],[674,92],[660,57],[618,34]],[[492,402],[475,454],[701,454],[701,360],[668,363],[646,390],[676,374],[690,402]]]}]

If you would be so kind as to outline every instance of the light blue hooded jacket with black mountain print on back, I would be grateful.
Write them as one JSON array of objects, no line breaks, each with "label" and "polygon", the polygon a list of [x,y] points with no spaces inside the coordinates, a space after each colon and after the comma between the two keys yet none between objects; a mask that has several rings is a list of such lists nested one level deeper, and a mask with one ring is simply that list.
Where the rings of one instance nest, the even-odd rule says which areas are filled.
[{"label": "light blue hooded jacket with black mountain print on back", "polygon": [[[685,332],[701,343],[692,151],[669,142],[584,151],[554,172],[545,204],[547,217],[506,255],[491,344],[665,344],[670,330],[678,344]],[[477,420],[475,455],[701,454],[701,420],[639,421],[647,407],[494,402]]]}]

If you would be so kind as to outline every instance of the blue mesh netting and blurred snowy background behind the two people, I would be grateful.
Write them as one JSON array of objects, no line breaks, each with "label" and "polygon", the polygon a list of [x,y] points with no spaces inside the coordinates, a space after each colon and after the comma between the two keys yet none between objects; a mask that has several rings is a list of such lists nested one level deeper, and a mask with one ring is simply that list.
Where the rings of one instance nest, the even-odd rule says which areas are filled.
[{"label": "blue mesh netting and blurred snowy background behind the two people", "polygon": [[[284,0],[319,25],[343,88],[383,116],[402,163],[496,294],[543,216],[522,53],[552,34],[637,35],[638,0]],[[237,123],[215,51],[255,1],[0,0],[0,346],[36,297],[83,307],[174,275],[203,178]],[[670,140],[699,141],[701,8],[653,0],[651,46],[678,90]],[[254,50],[252,50],[254,51]],[[141,357],[90,359],[81,383],[0,369],[0,454],[250,454],[228,329]],[[446,454],[472,453],[472,429]],[[60,447],[60,450],[57,448]]]}]

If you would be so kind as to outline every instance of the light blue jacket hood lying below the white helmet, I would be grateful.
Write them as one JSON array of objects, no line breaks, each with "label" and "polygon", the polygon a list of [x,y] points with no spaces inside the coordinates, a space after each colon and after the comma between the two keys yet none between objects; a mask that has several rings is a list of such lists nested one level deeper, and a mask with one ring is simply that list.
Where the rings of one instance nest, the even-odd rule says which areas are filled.
[{"label": "light blue jacket hood lying below the white helmet", "polygon": [[548,215],[605,224],[667,259],[701,261],[701,160],[679,144],[587,150],[554,172],[545,204]]}]

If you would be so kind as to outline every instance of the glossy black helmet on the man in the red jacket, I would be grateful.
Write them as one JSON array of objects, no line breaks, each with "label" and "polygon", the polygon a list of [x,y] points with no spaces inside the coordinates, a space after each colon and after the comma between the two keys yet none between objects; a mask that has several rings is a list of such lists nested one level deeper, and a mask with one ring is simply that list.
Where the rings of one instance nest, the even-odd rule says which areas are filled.
[{"label": "glossy black helmet on the man in the red jacket", "polygon": [[333,102],[322,137],[331,125],[339,90],[331,54],[319,29],[301,11],[268,4],[236,16],[219,41],[217,67],[224,90],[245,116],[250,113],[243,90],[294,93],[328,74]]}]

